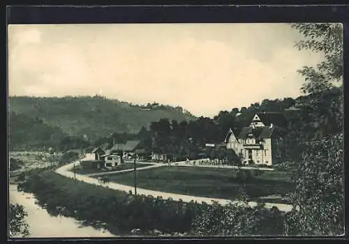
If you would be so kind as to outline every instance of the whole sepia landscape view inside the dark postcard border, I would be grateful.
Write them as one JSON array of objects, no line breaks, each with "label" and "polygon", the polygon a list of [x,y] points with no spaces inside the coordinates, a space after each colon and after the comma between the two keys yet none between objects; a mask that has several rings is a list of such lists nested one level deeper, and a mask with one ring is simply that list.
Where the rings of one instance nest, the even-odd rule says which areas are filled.
[{"label": "whole sepia landscape view inside the dark postcard border", "polygon": [[343,236],[340,23],[9,24],[9,238]]}]

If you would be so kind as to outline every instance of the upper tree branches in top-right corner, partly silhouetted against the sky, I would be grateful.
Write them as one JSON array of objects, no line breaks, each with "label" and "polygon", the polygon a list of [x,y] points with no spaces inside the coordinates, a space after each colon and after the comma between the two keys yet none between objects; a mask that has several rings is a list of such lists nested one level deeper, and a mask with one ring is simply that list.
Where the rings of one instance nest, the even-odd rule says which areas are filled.
[{"label": "upper tree branches in top-right corner, partly silhouetted against the sky", "polygon": [[[293,24],[304,35],[296,46],[322,52],[318,66],[303,67],[302,91],[309,97],[309,108],[318,138],[341,132],[343,128],[343,26],[341,24]],[[341,90],[341,89],[340,89]]]}]

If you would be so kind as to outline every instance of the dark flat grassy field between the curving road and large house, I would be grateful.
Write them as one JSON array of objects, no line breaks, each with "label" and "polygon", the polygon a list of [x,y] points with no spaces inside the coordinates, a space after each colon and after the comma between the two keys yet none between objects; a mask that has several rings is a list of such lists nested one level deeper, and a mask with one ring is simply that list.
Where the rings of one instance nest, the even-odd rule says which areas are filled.
[{"label": "dark flat grassy field between the curving road and large house", "polygon": [[[242,178],[235,169],[207,169],[202,167],[159,167],[138,171],[140,188],[173,192],[199,197],[236,199],[241,189],[253,199],[281,195],[293,189],[290,176],[285,171],[248,171],[249,178]],[[133,185],[133,174],[115,174],[111,181]],[[274,202],[282,202],[275,200]],[[283,201],[285,202],[285,201]]]}]

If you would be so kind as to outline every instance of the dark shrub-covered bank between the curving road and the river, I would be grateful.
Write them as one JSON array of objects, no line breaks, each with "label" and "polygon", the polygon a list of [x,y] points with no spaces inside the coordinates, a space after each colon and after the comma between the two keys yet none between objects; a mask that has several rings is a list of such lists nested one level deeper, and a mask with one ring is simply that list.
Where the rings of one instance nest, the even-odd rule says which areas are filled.
[{"label": "dark shrub-covered bank between the curving road and the river", "polygon": [[[206,218],[210,221],[230,221],[230,224],[227,222],[226,227],[235,231],[240,228],[240,234],[275,234],[276,230],[268,232],[266,229],[270,226],[275,227],[277,233],[282,232],[279,213],[275,214],[260,206],[257,208],[235,205],[210,206],[194,202],[186,204],[181,201],[144,195],[135,196],[127,192],[74,181],[47,170],[31,175],[18,187],[33,192],[39,204],[45,205],[52,215],[57,214],[57,206],[62,206],[66,209],[64,215],[96,227],[105,223],[103,225],[105,229],[121,236],[129,236],[132,229],[140,229],[142,235],[149,236],[159,233],[205,236],[205,229],[212,233],[210,224],[203,225],[207,223],[204,221]],[[254,222],[253,218],[255,218],[255,224],[258,224],[258,227],[249,224],[248,227],[241,229],[239,222],[232,221],[230,216],[223,214],[229,211],[242,218],[245,214],[251,215],[248,220]],[[258,216],[261,214],[265,215],[265,218],[262,224],[259,224]]]}]

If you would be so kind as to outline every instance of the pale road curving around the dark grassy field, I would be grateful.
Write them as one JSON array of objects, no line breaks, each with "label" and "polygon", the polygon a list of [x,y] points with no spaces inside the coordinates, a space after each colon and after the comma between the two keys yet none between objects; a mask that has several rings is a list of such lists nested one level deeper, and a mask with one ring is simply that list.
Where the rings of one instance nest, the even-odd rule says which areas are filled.
[{"label": "pale road curving around the dark grassy field", "polygon": [[[64,165],[62,167],[59,167],[56,169],[57,174],[61,174],[62,176],[66,176],[68,178],[74,178],[74,173],[70,171],[70,169],[76,164],[77,162],[72,162],[68,165]],[[184,165],[185,162],[180,162],[178,165]],[[173,163],[172,163],[173,165]],[[152,165],[153,166],[153,165]],[[163,164],[157,164],[154,167],[161,167]],[[153,168],[154,168],[153,167]],[[144,169],[145,167],[141,168]],[[148,167],[149,169],[149,167]],[[140,170],[140,169],[138,169]],[[121,173],[119,172],[114,172],[114,174]],[[91,178],[90,176],[86,175],[81,175],[81,174],[75,174],[75,178],[77,181],[83,181],[85,183],[90,183],[94,185],[101,185],[101,183],[98,182],[97,178]],[[107,188],[114,189],[114,190],[123,190],[125,192],[133,192],[134,193],[134,187],[129,186],[129,185],[121,185],[119,183],[107,183],[103,185]],[[195,196],[188,196],[188,195],[180,195],[180,194],[175,194],[175,193],[169,193],[169,192],[159,192],[159,191],[154,191],[154,190],[147,190],[147,189],[142,189],[142,188],[137,188],[137,193],[138,195],[152,195],[153,197],[163,197],[163,199],[168,199],[171,198],[174,201],[179,201],[180,199],[185,202],[190,202],[190,201],[197,201],[198,203],[201,203],[204,201],[207,204],[212,204],[212,201],[217,201],[218,204],[225,205],[228,204],[229,202],[233,203],[238,203],[239,201],[231,201],[228,199],[215,199],[215,198],[208,198],[208,197],[195,197]],[[258,203],[254,201],[248,202],[248,205],[251,207],[256,206]],[[283,212],[290,212],[292,210],[292,205],[288,204],[272,204],[272,203],[265,203],[266,208],[272,208],[273,206],[276,206],[279,208],[280,211]]]}]

